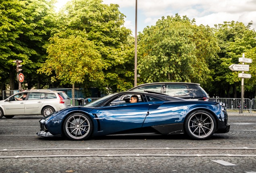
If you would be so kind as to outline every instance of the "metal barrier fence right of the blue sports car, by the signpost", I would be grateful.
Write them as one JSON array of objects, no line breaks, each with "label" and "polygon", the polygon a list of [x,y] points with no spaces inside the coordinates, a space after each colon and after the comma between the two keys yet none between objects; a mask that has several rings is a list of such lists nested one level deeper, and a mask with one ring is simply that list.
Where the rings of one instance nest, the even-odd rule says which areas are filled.
[{"label": "metal barrier fence right of the blue sports car, by the signpost", "polygon": [[[217,98],[217,102],[225,103],[227,109],[231,110],[239,110],[241,105],[241,99],[239,98]],[[243,110],[256,111],[256,99],[244,99]]]}]

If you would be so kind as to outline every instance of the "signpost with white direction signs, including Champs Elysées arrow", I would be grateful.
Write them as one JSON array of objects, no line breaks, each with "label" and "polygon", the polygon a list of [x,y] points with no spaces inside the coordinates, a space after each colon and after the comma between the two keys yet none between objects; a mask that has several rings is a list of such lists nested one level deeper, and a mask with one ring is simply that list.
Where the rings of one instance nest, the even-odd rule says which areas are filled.
[{"label": "signpost with white direction signs, including Champs Elys\u00e9es arrow", "polygon": [[239,62],[242,62],[242,64],[231,64],[229,66],[230,70],[232,71],[242,71],[242,73],[238,73],[238,77],[242,78],[241,79],[241,103],[240,103],[240,108],[239,108],[239,113],[243,113],[244,109],[244,78],[251,78],[251,74],[246,74],[244,71],[249,71],[249,65],[244,64],[246,63],[252,63],[251,58],[245,58],[244,53],[243,57],[238,59]]}]

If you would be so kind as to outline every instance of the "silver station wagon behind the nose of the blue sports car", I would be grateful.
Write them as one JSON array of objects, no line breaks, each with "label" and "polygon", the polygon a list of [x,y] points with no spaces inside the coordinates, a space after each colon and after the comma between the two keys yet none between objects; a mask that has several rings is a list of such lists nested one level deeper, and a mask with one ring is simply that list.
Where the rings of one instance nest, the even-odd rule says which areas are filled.
[{"label": "silver station wagon behind the nose of the blue sports car", "polygon": [[46,117],[70,106],[70,98],[63,91],[26,90],[0,101],[0,118],[12,118],[14,115]]}]

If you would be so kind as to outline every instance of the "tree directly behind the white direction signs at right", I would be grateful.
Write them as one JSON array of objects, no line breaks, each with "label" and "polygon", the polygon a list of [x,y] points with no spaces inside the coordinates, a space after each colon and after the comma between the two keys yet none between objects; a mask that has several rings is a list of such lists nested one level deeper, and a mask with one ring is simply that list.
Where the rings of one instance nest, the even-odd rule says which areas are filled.
[{"label": "tree directly behind the white direction signs at right", "polygon": [[[253,58],[256,47],[256,33],[250,29],[252,23],[245,26],[242,22],[224,22],[215,25],[215,36],[218,38],[218,44],[221,48],[216,62],[211,64],[214,72],[213,91],[219,97],[237,97],[237,90],[241,91],[241,78],[238,78],[238,72],[231,71],[228,67],[231,64],[238,64],[239,57],[245,53],[247,58]],[[253,58],[255,59],[255,58]],[[250,71],[255,71],[252,63]],[[250,89],[255,89],[254,75],[252,80],[245,80],[250,84]],[[253,81],[253,82],[252,82]]]}]

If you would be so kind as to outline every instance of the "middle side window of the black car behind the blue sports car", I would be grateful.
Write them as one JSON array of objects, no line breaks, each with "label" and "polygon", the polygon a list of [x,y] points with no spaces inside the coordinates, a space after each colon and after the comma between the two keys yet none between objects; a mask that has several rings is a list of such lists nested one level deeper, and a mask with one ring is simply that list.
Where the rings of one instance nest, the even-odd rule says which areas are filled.
[{"label": "middle side window of the black car behind the blue sports car", "polygon": [[166,85],[166,95],[177,97],[189,95],[190,91],[186,85],[180,84],[167,84]]}]

